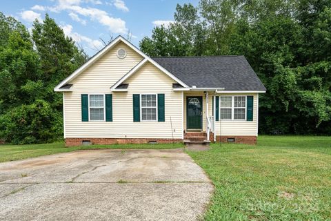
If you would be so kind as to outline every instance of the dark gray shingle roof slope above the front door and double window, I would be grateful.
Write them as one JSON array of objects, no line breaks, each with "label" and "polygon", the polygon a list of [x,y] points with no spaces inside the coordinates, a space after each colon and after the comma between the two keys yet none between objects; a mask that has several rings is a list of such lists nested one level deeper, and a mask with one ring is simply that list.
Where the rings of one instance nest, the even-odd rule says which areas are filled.
[{"label": "dark gray shingle roof slope above the front door and double window", "polygon": [[265,90],[243,56],[152,57],[188,86],[224,90]]}]

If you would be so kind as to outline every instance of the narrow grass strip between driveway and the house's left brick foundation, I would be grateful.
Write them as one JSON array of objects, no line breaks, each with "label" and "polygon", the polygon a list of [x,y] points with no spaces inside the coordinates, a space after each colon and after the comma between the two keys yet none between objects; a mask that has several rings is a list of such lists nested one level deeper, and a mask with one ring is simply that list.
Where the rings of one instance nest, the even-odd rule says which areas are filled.
[{"label": "narrow grass strip between driveway and the house's left brick foundation", "polygon": [[183,144],[113,144],[113,145],[91,145],[91,146],[72,146],[65,147],[63,142],[52,144],[28,144],[28,145],[0,145],[0,162],[12,160],[21,160],[30,157],[39,157],[41,155],[50,155],[54,153],[66,153],[70,151],[86,149],[161,149],[161,148],[182,148]]}]

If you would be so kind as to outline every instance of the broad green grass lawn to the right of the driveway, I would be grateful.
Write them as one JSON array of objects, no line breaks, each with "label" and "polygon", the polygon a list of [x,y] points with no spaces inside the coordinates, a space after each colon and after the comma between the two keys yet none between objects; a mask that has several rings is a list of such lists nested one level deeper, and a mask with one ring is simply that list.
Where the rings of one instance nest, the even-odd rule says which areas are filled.
[{"label": "broad green grass lawn to the right of the driveway", "polygon": [[331,137],[259,136],[188,152],[215,191],[205,220],[331,220]]}]

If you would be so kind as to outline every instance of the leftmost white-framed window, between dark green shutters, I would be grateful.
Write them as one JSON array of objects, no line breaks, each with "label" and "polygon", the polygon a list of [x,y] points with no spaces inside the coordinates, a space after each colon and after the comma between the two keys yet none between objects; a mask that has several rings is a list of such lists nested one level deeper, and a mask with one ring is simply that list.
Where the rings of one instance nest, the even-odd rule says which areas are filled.
[{"label": "leftmost white-framed window, between dark green shutters", "polygon": [[90,95],[90,120],[102,121],[105,119],[103,95]]}]

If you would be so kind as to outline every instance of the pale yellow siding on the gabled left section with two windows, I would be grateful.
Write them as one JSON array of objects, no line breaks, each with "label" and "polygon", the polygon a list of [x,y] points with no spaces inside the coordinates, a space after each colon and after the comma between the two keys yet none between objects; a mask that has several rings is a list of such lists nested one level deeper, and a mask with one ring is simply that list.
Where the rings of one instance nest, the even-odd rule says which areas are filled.
[{"label": "pale yellow siding on the gabled left section with two windows", "polygon": [[[128,55],[125,59],[118,59],[115,54],[118,48],[113,48],[97,64],[71,82],[74,91],[65,93],[66,137],[172,138],[171,116],[174,139],[181,139],[181,92],[174,92],[174,80],[149,62],[124,82],[129,84],[127,93],[112,93],[113,122],[81,122],[81,94],[111,93],[110,86],[142,59],[133,50],[131,53],[125,45],[121,45],[121,48],[126,48]],[[128,61],[122,61],[126,59]],[[143,93],[165,94],[165,122],[133,122],[132,94]]]}]

